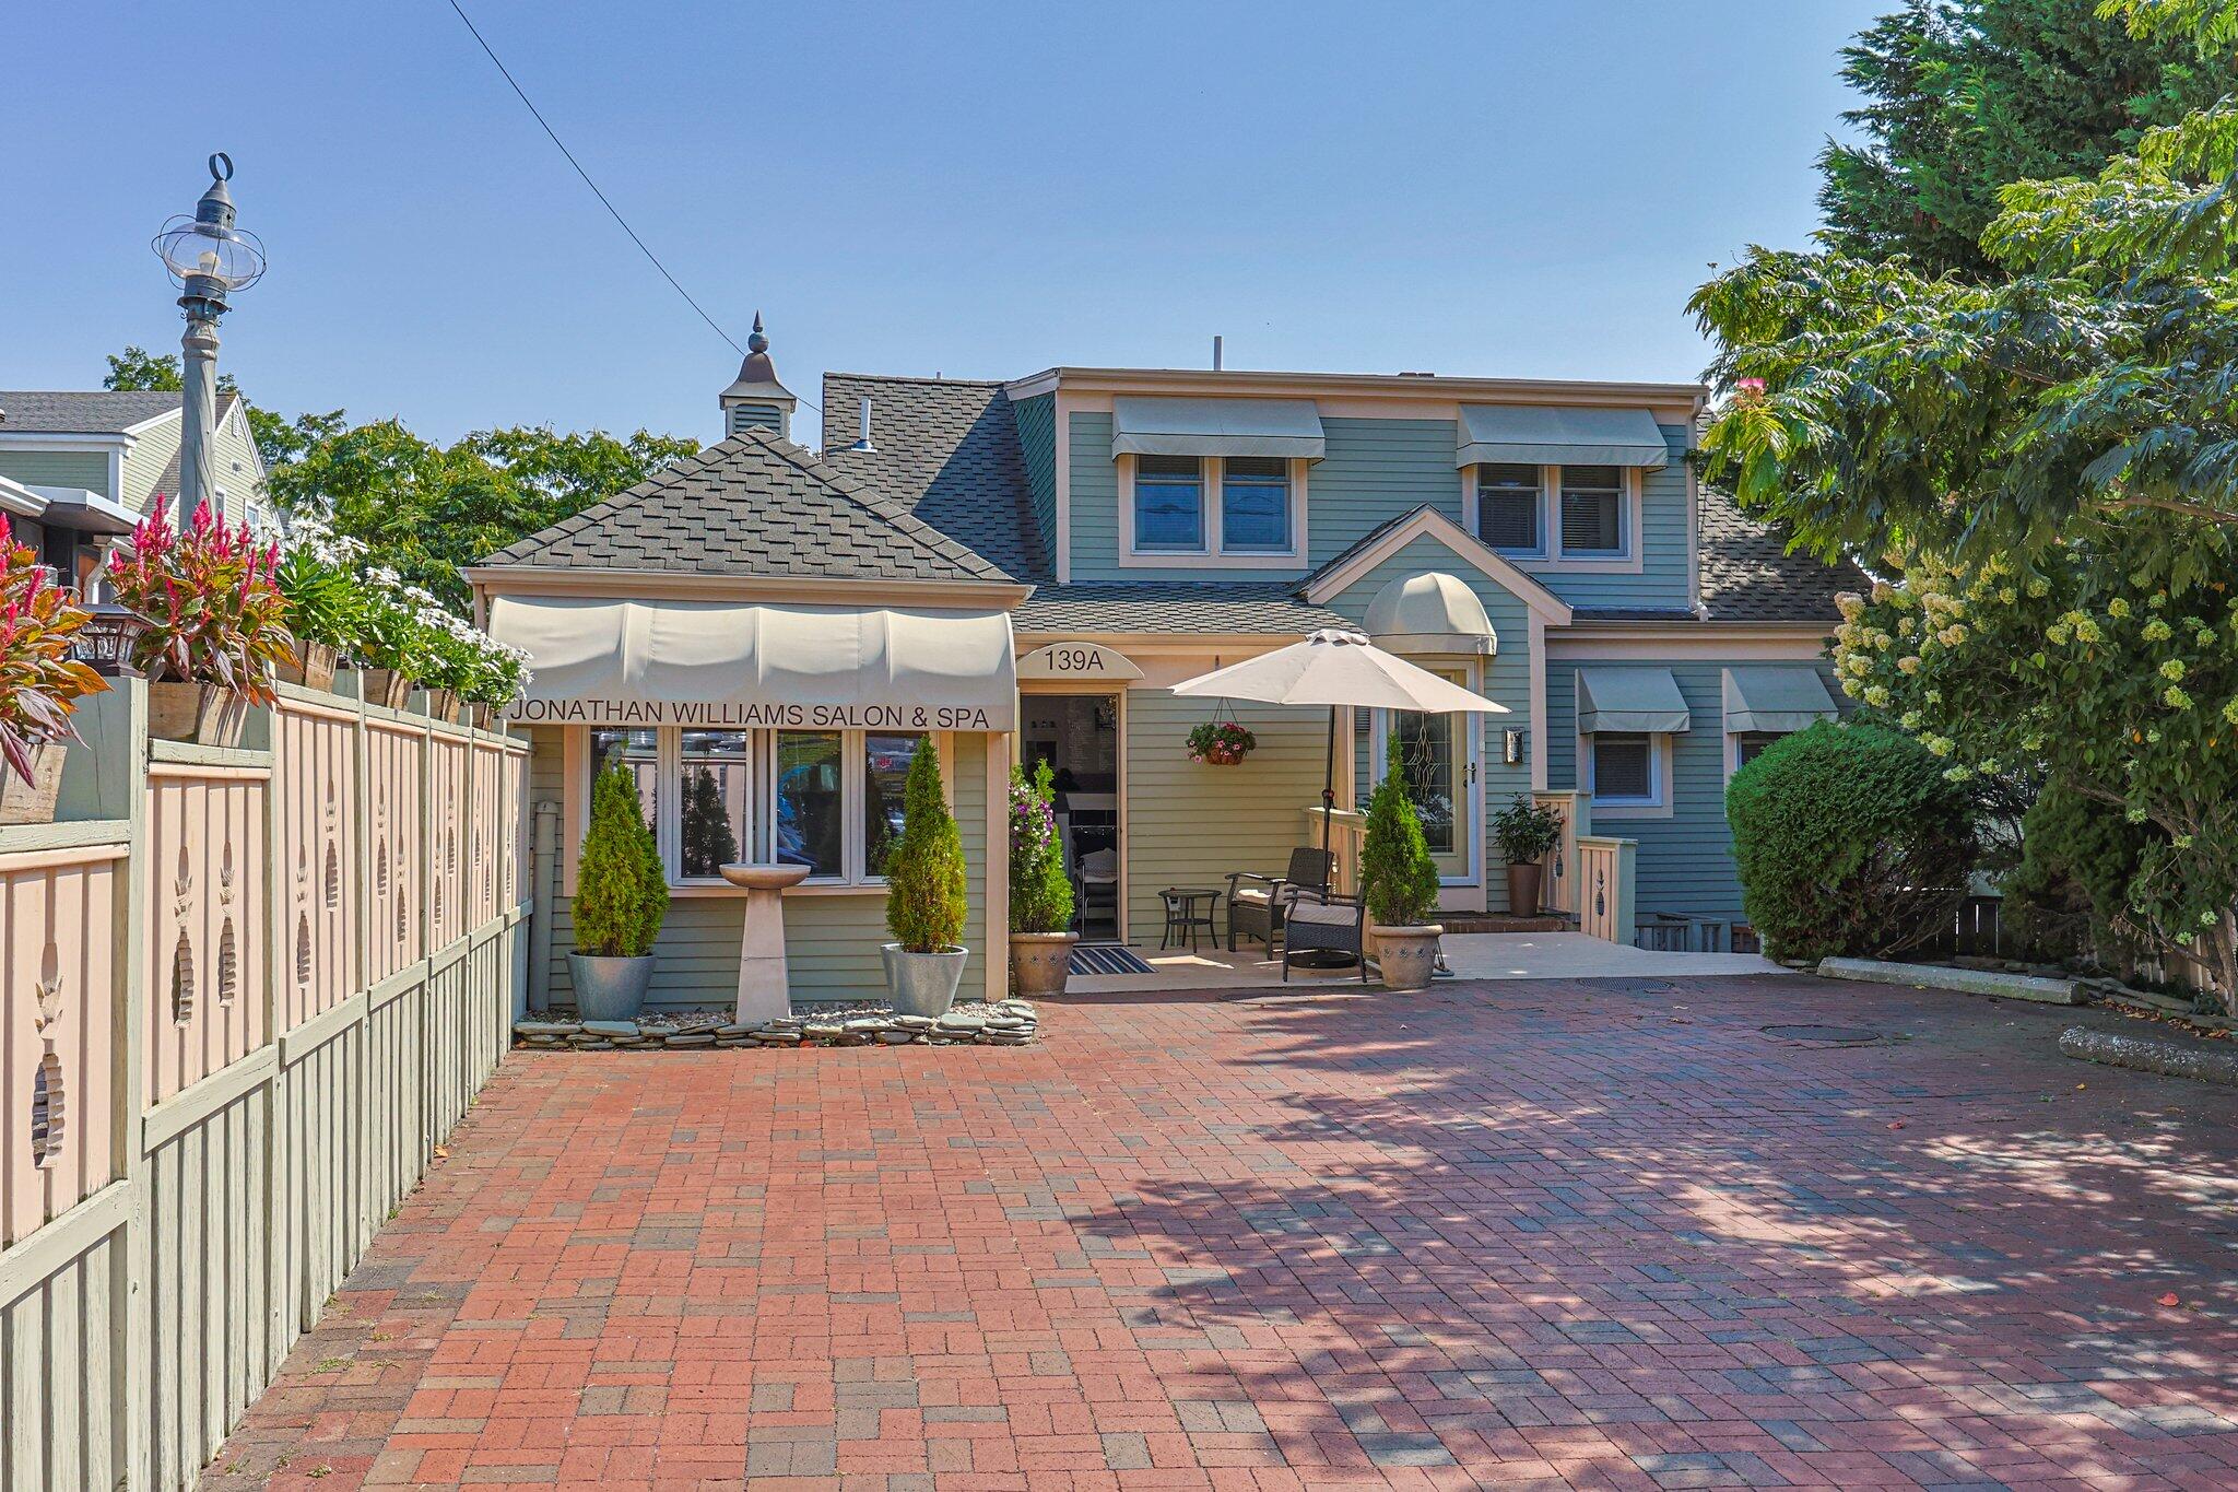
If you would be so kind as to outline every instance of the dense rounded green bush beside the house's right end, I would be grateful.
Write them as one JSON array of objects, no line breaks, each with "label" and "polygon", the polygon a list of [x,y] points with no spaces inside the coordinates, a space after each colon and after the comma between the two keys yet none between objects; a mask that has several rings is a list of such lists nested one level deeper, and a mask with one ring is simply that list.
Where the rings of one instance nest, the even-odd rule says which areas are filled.
[{"label": "dense rounded green bush beside the house's right end", "polygon": [[1972,812],[1902,731],[1822,720],[1784,736],[1725,785],[1748,922],[1779,957],[1916,948],[1965,897]]}]

